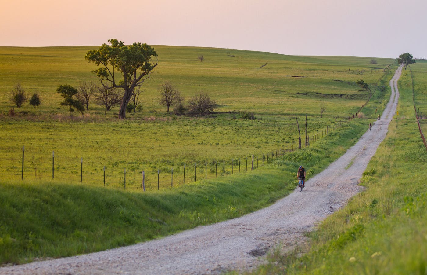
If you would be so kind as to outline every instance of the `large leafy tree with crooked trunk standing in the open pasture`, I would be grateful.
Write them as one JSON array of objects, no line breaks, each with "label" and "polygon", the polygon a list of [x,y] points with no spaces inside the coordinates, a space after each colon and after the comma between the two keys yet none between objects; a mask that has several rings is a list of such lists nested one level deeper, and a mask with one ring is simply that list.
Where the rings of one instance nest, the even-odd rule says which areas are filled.
[{"label": "large leafy tree with crooked trunk standing in the open pasture", "polygon": [[102,86],[124,90],[119,110],[119,118],[123,119],[126,118],[126,106],[134,89],[140,87],[157,66],[157,53],[146,43],[126,46],[125,42],[114,38],[109,39],[108,43],[111,45],[104,43],[98,50],[88,51],[85,59],[100,66],[92,72],[99,77]]}]

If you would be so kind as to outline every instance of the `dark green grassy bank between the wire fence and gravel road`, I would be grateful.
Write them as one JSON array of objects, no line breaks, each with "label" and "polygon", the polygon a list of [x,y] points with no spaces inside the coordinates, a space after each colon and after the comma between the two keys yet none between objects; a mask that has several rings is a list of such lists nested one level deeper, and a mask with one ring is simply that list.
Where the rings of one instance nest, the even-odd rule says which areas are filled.
[{"label": "dark green grassy bank between the wire fence and gravel road", "polygon": [[356,119],[275,164],[159,192],[2,180],[0,262],[100,251],[252,212],[295,188],[300,163],[310,167],[310,175],[322,171],[365,128],[365,122]]}]

